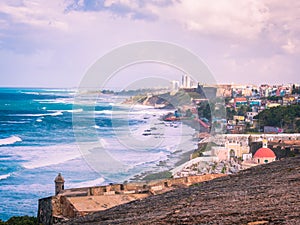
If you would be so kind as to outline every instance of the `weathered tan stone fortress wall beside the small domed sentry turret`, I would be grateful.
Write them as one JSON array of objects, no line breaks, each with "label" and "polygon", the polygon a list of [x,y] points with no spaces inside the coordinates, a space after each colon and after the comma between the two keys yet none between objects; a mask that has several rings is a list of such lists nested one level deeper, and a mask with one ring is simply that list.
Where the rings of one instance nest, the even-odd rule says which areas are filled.
[{"label": "weathered tan stone fortress wall beside the small domed sentry turret", "polygon": [[92,212],[157,195],[179,187],[187,187],[224,174],[206,174],[150,182],[110,184],[61,190],[57,195],[39,199],[38,220],[40,224],[55,224]]}]

